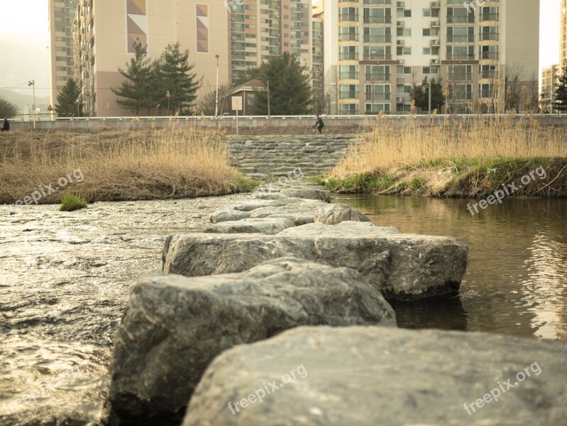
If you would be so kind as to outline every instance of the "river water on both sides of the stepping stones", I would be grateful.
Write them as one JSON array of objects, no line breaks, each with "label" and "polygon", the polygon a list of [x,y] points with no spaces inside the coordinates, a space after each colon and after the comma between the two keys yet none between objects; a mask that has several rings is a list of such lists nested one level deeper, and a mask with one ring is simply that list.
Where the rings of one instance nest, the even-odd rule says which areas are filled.
[{"label": "river water on both sides of the stepping stones", "polygon": [[[128,288],[160,271],[165,237],[198,231],[246,195],[0,207],[0,426],[88,425]],[[510,198],[471,216],[466,200],[337,195],[380,226],[469,245],[458,297],[395,304],[400,327],[567,339],[567,200]]]}]

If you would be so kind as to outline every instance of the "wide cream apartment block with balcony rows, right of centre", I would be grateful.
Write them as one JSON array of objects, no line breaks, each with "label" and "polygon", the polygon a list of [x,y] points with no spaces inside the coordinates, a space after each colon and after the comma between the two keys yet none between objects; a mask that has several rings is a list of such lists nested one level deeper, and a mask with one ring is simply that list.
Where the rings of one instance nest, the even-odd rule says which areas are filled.
[{"label": "wide cream apartment block with balcony rows, right of centre", "polygon": [[326,0],[324,28],[331,114],[407,113],[424,77],[448,84],[450,112],[537,99],[539,0]]}]

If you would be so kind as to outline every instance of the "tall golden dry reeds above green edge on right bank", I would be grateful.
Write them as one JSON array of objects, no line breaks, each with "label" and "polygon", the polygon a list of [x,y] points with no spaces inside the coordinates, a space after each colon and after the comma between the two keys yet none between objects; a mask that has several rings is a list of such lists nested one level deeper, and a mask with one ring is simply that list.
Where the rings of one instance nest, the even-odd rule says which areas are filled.
[{"label": "tall golden dry reeds above green edge on right bank", "polygon": [[402,128],[387,124],[379,115],[373,131],[363,143],[351,147],[346,157],[330,173],[330,178],[345,178],[354,173],[430,163],[490,164],[502,158],[534,158],[567,155],[565,128],[539,126],[524,117],[512,119],[457,119],[443,126],[409,124]]}]

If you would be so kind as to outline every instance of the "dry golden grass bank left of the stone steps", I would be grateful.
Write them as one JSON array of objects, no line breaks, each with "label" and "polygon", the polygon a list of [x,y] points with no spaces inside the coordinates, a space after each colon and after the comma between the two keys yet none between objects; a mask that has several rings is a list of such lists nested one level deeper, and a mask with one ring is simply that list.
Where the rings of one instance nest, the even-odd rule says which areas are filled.
[{"label": "dry golden grass bank left of the stone steps", "polygon": [[[254,182],[229,166],[215,129],[13,131],[0,135],[0,203],[224,195]],[[30,204],[30,203],[27,203]]]}]

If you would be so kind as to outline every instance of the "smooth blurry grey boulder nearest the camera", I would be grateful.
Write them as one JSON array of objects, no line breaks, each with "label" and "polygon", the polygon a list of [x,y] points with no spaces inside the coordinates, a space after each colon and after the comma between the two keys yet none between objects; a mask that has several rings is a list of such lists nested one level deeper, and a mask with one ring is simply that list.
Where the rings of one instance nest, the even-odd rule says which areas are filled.
[{"label": "smooth blurry grey boulder nearest the camera", "polygon": [[183,425],[563,426],[565,359],[550,340],[299,327],[218,356]]}]

